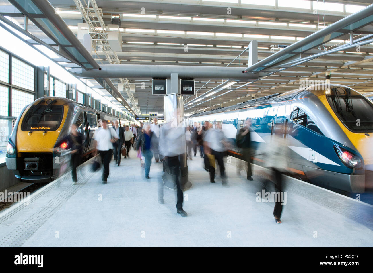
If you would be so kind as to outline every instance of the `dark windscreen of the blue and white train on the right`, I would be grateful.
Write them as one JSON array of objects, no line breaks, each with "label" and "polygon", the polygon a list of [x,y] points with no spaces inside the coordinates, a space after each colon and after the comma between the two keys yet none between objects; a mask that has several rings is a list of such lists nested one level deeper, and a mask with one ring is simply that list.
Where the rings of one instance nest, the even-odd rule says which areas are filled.
[{"label": "dark windscreen of the blue and white train on the right", "polygon": [[363,96],[327,96],[333,111],[350,130],[373,131],[373,105]]}]

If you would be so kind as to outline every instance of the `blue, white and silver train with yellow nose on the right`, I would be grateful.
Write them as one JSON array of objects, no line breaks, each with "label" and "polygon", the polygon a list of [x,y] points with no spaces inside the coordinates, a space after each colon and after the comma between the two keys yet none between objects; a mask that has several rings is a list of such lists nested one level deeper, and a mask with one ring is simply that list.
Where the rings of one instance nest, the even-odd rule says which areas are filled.
[{"label": "blue, white and silver train with yellow nose on the right", "polygon": [[[373,188],[373,102],[354,89],[313,85],[194,114],[186,122],[219,121],[235,144],[247,118],[254,164],[262,164],[260,151],[272,134],[280,134],[286,138],[290,173],[349,192]],[[241,158],[241,150],[232,147],[229,154]]]}]

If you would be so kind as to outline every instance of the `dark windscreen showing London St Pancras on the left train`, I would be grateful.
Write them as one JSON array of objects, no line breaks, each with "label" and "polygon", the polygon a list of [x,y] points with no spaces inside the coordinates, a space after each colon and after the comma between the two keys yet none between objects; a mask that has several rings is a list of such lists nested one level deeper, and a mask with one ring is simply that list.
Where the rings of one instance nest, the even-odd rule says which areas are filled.
[{"label": "dark windscreen showing London St Pancras on the left train", "polygon": [[23,118],[22,131],[55,131],[63,117],[62,105],[33,105]]}]

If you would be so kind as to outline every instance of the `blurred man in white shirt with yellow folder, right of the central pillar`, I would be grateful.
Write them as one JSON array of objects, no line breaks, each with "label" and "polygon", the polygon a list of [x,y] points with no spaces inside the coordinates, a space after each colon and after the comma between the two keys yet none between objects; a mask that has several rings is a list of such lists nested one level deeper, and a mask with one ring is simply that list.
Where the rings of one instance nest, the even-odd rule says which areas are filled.
[{"label": "blurred man in white shirt with yellow folder, right of the central pillar", "polygon": [[[204,137],[204,149],[207,154],[214,156],[213,160],[217,161],[220,167],[220,175],[222,177],[222,186],[228,187],[228,182],[225,175],[225,167],[223,158],[226,156],[228,141],[222,131],[222,125],[220,121],[216,121],[215,128],[209,129]],[[214,164],[215,165],[215,164]],[[215,183],[215,166],[210,164],[210,182]]]}]

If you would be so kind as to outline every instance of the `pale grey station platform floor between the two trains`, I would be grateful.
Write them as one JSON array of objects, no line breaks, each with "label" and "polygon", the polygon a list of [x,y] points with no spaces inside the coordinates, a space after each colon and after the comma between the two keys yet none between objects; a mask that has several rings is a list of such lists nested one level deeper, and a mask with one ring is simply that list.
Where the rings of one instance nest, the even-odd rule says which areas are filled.
[{"label": "pale grey station platform floor between the two trains", "polygon": [[286,178],[282,223],[274,203],[257,202],[263,169],[254,181],[236,174],[237,160],[226,164],[229,188],[209,182],[197,156],[188,161],[192,187],[184,192],[184,210],[176,213],[175,191],[164,189],[158,203],[162,163],[151,164],[145,179],[131,150],[121,166],[110,163],[107,184],[90,161],[0,212],[1,247],[372,247],[373,206]]}]

